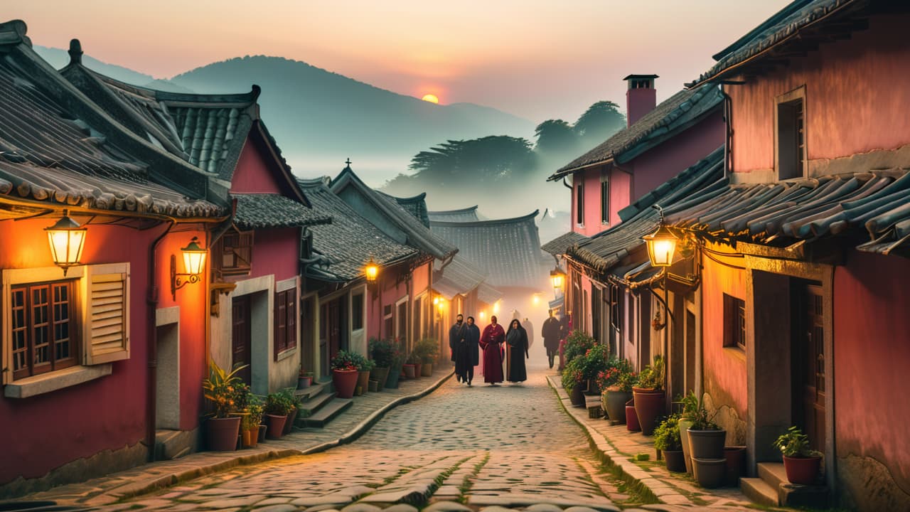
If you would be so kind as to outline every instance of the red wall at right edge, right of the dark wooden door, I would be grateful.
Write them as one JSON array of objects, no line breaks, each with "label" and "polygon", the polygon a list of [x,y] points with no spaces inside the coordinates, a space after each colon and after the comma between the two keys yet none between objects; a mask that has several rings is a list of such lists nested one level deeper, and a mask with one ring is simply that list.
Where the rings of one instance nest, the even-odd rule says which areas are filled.
[{"label": "red wall at right edge, right of the dark wooden door", "polygon": [[838,457],[880,461],[910,488],[910,261],[850,251],[834,269],[834,409]]}]

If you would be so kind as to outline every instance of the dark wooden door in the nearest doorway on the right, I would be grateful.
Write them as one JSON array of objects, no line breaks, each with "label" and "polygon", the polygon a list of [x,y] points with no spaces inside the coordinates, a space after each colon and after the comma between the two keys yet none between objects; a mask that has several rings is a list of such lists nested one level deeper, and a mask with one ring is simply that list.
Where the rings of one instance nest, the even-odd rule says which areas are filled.
[{"label": "dark wooden door in the nearest doorway on the right", "polygon": [[824,306],[822,287],[802,284],[794,302],[794,424],[824,452]]}]

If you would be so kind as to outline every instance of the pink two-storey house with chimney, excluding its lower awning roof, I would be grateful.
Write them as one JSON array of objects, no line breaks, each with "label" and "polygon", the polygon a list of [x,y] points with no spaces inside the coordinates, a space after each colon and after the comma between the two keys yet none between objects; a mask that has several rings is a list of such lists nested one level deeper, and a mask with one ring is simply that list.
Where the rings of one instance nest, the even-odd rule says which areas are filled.
[{"label": "pink two-storey house with chimney, excluding its lower awning roof", "polygon": [[[654,107],[654,78],[625,77],[628,128],[549,178],[571,188],[571,231],[543,246],[567,261],[564,300],[572,328],[610,343],[612,353],[622,353],[636,366],[661,353],[661,344],[651,343],[649,328],[657,299],[631,293],[567,252],[626,220],[630,215],[623,209],[636,201],[653,203],[654,192],[669,191],[668,180],[723,145],[723,96],[716,86],[682,90]],[[571,185],[566,183],[570,178]]]}]

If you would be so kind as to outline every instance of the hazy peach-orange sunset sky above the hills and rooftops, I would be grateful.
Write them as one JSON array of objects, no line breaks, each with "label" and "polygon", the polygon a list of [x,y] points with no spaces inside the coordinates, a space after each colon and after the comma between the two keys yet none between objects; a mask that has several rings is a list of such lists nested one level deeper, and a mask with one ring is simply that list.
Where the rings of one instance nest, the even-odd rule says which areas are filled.
[{"label": "hazy peach-orange sunset sky above the hills and rooftops", "polygon": [[622,77],[655,73],[658,100],[785,0],[3,0],[35,44],[158,78],[233,56],[284,56],[441,103],[572,122]]}]

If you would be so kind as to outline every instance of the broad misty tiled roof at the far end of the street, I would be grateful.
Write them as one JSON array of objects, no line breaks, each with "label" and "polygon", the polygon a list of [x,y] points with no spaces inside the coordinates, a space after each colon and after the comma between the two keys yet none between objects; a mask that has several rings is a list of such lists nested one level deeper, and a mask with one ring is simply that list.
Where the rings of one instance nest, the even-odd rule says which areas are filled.
[{"label": "broad misty tiled roof at the far end of the street", "polygon": [[544,254],[534,218],[524,217],[476,222],[430,221],[438,236],[455,244],[459,254],[487,274],[496,287],[537,289],[545,275]]}]

